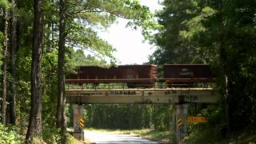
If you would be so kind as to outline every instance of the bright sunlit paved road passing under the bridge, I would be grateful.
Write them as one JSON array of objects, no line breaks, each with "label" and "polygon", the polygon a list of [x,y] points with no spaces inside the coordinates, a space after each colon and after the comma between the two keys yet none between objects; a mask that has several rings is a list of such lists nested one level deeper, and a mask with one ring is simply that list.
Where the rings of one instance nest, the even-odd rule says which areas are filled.
[{"label": "bright sunlit paved road passing under the bridge", "polygon": [[132,136],[129,134],[113,134],[110,132],[98,132],[85,130],[85,137],[90,139],[90,142],[96,143],[145,143],[153,144],[158,142],[149,141],[140,137]]}]

